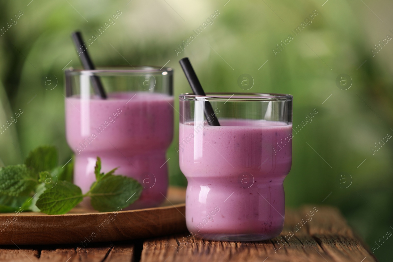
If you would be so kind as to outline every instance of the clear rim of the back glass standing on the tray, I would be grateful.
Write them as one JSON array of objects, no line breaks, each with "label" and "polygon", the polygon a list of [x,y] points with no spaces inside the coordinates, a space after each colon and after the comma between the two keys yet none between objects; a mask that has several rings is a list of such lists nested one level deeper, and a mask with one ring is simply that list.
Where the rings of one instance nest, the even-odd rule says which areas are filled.
[{"label": "clear rim of the back glass standing on the tray", "polygon": [[66,69],[64,70],[65,73],[68,75],[80,75],[83,73],[87,74],[97,74],[97,73],[127,73],[127,74],[140,74],[140,73],[163,73],[167,72],[168,74],[173,73],[173,69],[170,67],[162,67],[159,68],[158,66],[134,66],[133,68],[130,67],[116,67],[116,66],[108,66],[108,67],[101,67],[95,70],[84,70],[82,68],[78,69]]}]

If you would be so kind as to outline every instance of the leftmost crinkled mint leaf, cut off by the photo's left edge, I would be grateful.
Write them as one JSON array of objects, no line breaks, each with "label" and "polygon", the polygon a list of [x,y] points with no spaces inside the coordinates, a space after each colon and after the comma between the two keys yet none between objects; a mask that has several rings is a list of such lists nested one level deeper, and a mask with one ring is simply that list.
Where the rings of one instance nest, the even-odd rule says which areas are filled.
[{"label": "leftmost crinkled mint leaf, cut off by the photo's left edge", "polygon": [[25,165],[0,167],[0,194],[28,195],[38,183],[38,177]]}]

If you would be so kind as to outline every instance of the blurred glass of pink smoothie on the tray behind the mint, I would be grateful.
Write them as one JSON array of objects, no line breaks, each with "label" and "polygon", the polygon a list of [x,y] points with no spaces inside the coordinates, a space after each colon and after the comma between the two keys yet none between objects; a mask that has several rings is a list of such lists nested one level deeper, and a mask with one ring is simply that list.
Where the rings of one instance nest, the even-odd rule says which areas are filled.
[{"label": "blurred glass of pink smoothie on the tray behind the mint", "polygon": [[[85,193],[102,172],[132,177],[144,187],[127,209],[160,205],[167,193],[166,151],[173,138],[173,70],[135,67],[66,72],[66,138],[75,152],[74,183]],[[97,78],[107,99],[94,93]],[[130,197],[132,192],[130,192]],[[82,203],[89,207],[90,200]]]}]

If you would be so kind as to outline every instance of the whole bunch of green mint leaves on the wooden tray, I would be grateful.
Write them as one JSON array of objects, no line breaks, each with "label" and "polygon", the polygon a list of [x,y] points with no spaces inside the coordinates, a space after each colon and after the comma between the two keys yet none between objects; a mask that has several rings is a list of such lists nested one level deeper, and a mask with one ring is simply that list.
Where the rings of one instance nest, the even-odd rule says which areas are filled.
[{"label": "whole bunch of green mint leaves on the wooden tray", "polygon": [[73,161],[57,166],[57,150],[43,146],[31,151],[22,165],[0,167],[0,212],[35,211],[46,214],[65,214],[84,197],[91,199],[100,212],[128,207],[141,195],[138,181],[114,175],[117,168],[101,172],[101,159],[94,168],[96,181],[83,194],[72,183]]}]

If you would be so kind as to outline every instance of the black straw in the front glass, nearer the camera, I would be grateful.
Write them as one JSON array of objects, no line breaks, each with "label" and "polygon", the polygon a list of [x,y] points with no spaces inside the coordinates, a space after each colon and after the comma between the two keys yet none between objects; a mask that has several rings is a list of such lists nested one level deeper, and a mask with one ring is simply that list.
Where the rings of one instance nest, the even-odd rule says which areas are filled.
[{"label": "black straw in the front glass, nearer the camera", "polygon": [[[180,59],[179,63],[184,71],[185,77],[187,78],[194,94],[195,95],[206,95],[205,91],[203,90],[202,86],[200,85],[198,77],[196,76],[194,68],[193,68],[193,66],[191,66],[191,62],[188,59],[188,57],[184,57],[183,59]],[[213,107],[211,106],[209,101],[205,101],[205,116],[206,116],[206,119],[208,119],[209,125],[211,125],[211,126],[219,126],[220,125],[219,120],[217,119],[216,114],[214,113]]]}]

